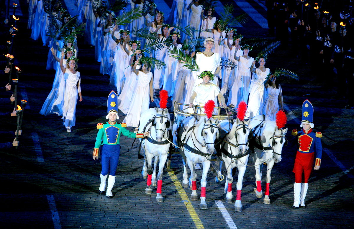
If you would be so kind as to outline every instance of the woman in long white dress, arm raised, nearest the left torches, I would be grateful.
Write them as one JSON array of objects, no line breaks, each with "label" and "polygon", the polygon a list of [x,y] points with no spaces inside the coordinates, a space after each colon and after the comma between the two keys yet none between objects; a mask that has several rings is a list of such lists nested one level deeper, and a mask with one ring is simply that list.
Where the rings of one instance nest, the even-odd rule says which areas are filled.
[{"label": "woman in long white dress, arm raised, nearest the left torches", "polygon": [[64,105],[63,105],[63,125],[67,128],[67,131],[71,132],[71,127],[75,125],[75,111],[76,103],[82,101],[81,86],[80,86],[80,72],[76,71],[78,68],[78,59],[70,57],[67,60],[67,68],[64,68],[62,54],[60,68],[64,74],[65,90],[64,90]]}]

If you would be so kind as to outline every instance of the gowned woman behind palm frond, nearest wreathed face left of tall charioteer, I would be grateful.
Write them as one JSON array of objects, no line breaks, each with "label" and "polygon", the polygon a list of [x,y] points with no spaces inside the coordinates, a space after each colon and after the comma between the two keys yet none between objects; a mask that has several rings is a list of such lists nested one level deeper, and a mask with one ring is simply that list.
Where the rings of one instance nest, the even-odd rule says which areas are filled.
[{"label": "gowned woman behind palm frond, nearest wreathed face left of tall charioteer", "polygon": [[[174,31],[170,33],[170,37],[172,39],[171,48],[175,46],[181,49],[182,45],[177,43],[178,39],[181,38],[181,34]],[[177,72],[178,72],[179,62],[177,61],[176,58],[171,57],[167,54],[165,63],[166,63],[166,69],[165,69],[164,83],[162,89],[166,90],[170,96],[173,96],[177,78],[178,78]]]}]

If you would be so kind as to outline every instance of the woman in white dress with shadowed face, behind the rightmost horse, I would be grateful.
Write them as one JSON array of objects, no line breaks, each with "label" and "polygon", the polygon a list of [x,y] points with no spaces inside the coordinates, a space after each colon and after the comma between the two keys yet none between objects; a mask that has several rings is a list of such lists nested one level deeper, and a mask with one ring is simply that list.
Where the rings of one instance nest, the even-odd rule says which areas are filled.
[{"label": "woman in white dress with shadowed face, behind the rightmost horse", "polygon": [[262,114],[270,120],[276,120],[276,113],[279,109],[283,110],[283,95],[281,86],[276,82],[276,76],[270,76],[269,80],[264,82],[265,99]]}]

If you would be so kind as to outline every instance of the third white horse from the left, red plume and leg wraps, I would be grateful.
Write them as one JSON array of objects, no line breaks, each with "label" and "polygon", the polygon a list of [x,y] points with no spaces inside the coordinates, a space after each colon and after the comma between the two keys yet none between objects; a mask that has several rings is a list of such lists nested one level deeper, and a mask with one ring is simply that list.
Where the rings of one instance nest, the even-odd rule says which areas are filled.
[{"label": "third white horse from the left, red plume and leg wraps", "polygon": [[[223,120],[224,121],[224,120]],[[235,211],[242,211],[241,204],[241,190],[242,181],[246,172],[247,161],[250,155],[249,150],[249,136],[252,137],[250,120],[240,121],[238,118],[234,120],[234,124],[229,133],[225,134],[224,140],[221,142],[221,154],[218,156],[216,165],[218,166],[218,174],[221,174],[222,161],[225,162],[227,171],[227,179],[225,180],[224,193],[226,193],[226,202],[232,203],[232,169],[237,167],[239,170],[238,179],[236,183],[237,194],[235,201]],[[250,135],[251,133],[251,135]],[[218,177],[215,177],[218,182]]]}]

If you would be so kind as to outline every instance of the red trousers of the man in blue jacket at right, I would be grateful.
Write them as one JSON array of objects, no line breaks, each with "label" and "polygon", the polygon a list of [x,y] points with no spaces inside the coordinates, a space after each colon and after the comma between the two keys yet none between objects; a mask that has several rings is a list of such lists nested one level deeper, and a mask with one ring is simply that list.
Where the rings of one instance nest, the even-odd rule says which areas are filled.
[{"label": "red trousers of the man in blue jacket at right", "polygon": [[294,168],[292,170],[292,172],[295,173],[295,183],[308,183],[314,159],[314,152],[304,154],[297,151]]}]

